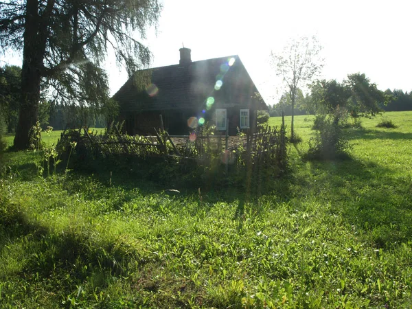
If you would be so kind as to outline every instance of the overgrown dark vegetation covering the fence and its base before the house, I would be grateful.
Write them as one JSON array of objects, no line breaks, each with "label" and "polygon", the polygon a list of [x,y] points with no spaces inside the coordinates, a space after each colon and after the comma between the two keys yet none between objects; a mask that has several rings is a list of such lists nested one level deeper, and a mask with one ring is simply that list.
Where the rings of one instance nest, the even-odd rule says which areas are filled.
[{"label": "overgrown dark vegetation covering the fence and its base before the house", "polygon": [[76,141],[73,169],[101,172],[102,166],[123,170],[139,179],[157,181],[171,188],[245,187],[266,190],[287,169],[286,132],[283,126],[261,126],[255,135],[240,133],[227,146],[227,137],[211,135],[209,129],[192,133],[176,147],[168,133],[156,137],[129,136],[112,126],[104,135],[71,130],[62,135],[57,148],[67,157],[69,143]]}]

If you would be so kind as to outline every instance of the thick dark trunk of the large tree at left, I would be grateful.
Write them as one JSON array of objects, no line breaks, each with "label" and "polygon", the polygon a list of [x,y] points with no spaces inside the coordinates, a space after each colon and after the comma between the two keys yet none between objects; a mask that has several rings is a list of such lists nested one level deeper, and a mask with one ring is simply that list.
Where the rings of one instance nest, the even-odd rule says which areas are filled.
[{"label": "thick dark trunk of the large tree at left", "polygon": [[41,69],[45,46],[40,39],[38,1],[27,0],[25,32],[23,34],[23,65],[21,68],[21,97],[19,122],[14,137],[14,148],[30,147],[30,129],[36,124],[40,101]]}]

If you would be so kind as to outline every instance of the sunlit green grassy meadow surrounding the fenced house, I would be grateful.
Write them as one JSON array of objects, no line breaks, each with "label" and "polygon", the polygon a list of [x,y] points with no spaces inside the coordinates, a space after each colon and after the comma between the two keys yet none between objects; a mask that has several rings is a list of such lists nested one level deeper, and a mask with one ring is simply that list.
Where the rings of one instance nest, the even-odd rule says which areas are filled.
[{"label": "sunlit green grassy meadow surrounding the fenced house", "polygon": [[302,159],[313,119],[258,196],[116,167],[45,178],[36,152],[6,152],[0,308],[411,308],[412,111],[346,129],[343,161]]}]

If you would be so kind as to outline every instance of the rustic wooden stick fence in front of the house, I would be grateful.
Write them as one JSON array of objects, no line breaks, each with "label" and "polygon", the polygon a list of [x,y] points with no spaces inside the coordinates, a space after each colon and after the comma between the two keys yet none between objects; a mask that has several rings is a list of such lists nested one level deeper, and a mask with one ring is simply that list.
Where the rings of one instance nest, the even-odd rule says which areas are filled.
[{"label": "rustic wooden stick fence in front of the house", "polygon": [[[170,136],[156,130],[153,136],[130,136],[120,133],[117,126],[110,133],[98,134],[87,128],[65,130],[60,137],[60,149],[76,141],[78,154],[84,157],[133,156],[180,157],[209,162],[219,158],[222,163],[286,164],[286,134],[280,128],[261,128],[258,133],[244,133],[236,137],[210,134],[197,130],[191,135]],[[64,147],[64,145],[68,147]]]}]

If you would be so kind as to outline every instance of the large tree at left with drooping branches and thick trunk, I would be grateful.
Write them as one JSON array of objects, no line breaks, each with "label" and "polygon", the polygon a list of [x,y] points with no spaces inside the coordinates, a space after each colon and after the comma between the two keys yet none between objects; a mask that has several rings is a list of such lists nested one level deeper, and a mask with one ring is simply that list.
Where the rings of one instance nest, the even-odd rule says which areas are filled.
[{"label": "large tree at left with drooping branches and thick trunk", "polygon": [[23,55],[14,146],[30,144],[41,90],[69,104],[108,100],[102,66],[109,47],[130,75],[148,65],[150,51],[139,39],[157,25],[160,11],[157,0],[1,1],[0,46]]}]

